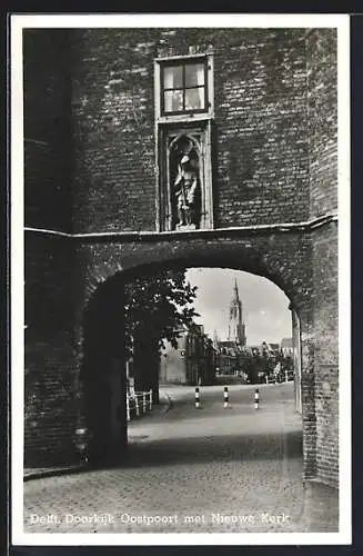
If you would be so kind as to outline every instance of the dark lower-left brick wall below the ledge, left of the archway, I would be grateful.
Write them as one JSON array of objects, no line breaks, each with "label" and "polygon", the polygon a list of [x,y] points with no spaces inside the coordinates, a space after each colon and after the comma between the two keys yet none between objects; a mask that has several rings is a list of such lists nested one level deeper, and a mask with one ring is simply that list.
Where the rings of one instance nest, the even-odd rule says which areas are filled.
[{"label": "dark lower-left brick wall below the ledge, left of the archway", "polygon": [[26,465],[72,460],[77,428],[72,245],[27,235]]}]

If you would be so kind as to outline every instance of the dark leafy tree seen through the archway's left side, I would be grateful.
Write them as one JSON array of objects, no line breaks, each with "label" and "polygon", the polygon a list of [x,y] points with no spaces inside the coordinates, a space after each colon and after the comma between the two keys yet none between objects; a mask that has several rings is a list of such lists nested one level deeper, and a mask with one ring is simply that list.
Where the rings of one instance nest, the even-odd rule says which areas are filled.
[{"label": "dark leafy tree seen through the archway's left side", "polygon": [[177,347],[178,328],[193,326],[196,287],[185,280],[185,269],[162,269],[137,277],[125,287],[125,350],[133,356],[135,389],[154,391],[163,339]]}]

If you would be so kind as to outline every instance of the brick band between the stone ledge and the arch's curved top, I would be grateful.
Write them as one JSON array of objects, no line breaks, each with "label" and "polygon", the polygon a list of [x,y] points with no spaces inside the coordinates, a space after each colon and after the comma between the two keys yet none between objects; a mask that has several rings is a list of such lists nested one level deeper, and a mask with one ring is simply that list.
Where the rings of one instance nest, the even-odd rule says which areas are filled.
[{"label": "brick band between the stone ledge and the arch's curved top", "polygon": [[[77,257],[82,268],[85,291],[78,301],[87,304],[99,284],[127,272],[142,272],[153,266],[177,264],[202,267],[236,268],[265,276],[281,287],[296,308],[309,310],[312,287],[310,235],[275,234],[242,237],[231,232],[208,232],[162,239],[158,236],[139,240],[122,238],[80,241]],[[130,278],[130,279],[131,279]]]}]

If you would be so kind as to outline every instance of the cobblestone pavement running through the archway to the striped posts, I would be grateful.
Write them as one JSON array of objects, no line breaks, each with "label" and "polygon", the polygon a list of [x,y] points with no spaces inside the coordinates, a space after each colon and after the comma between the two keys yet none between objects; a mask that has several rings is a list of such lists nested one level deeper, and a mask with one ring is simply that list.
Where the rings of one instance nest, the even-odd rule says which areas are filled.
[{"label": "cobblestone pavement running through the archway to the striped posts", "polygon": [[293,386],[167,388],[114,468],[24,483],[26,533],[337,532],[337,493],[302,483]]}]

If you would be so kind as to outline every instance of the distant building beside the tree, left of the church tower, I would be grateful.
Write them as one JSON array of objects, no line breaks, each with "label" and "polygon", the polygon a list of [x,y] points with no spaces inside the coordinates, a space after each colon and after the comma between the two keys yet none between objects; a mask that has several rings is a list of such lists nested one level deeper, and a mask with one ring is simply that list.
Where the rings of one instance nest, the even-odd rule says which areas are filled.
[{"label": "distant building beside the tree, left of the church tower", "polygon": [[164,341],[160,357],[160,384],[209,385],[214,383],[213,344],[201,325],[180,329],[174,348]]}]

